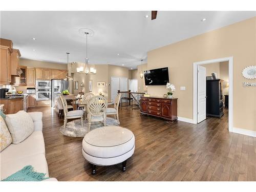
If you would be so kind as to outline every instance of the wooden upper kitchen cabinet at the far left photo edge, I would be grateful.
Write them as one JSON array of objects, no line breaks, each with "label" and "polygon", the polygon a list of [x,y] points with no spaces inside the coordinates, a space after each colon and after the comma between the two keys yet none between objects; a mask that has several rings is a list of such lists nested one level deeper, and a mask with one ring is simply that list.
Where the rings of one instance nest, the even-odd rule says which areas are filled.
[{"label": "wooden upper kitchen cabinet at the far left photo edge", "polygon": [[11,49],[6,46],[0,46],[0,84],[10,84],[11,78]]}]

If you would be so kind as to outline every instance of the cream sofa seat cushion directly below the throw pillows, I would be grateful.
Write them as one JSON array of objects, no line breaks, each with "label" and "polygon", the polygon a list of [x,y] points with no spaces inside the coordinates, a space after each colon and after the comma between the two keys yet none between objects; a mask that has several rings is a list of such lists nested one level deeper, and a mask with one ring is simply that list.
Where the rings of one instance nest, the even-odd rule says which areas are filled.
[{"label": "cream sofa seat cushion directly below the throw pillows", "polygon": [[19,144],[11,144],[1,152],[1,162],[7,163],[12,159],[20,159],[31,155],[45,155],[44,136],[41,131],[33,132]]}]

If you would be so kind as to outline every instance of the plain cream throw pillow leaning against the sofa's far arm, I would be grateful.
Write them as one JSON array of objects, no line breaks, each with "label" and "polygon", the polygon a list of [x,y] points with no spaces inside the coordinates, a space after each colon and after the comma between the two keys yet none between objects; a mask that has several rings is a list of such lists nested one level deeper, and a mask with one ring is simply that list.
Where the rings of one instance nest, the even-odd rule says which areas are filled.
[{"label": "plain cream throw pillow leaning against the sofa's far arm", "polygon": [[12,143],[19,144],[34,131],[34,123],[30,115],[25,111],[6,116],[6,124],[12,136]]}]

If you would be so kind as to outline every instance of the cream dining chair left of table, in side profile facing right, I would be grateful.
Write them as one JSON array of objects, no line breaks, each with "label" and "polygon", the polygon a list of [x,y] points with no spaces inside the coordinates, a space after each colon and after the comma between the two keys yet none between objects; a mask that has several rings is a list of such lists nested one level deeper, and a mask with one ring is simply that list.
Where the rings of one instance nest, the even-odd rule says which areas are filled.
[{"label": "cream dining chair left of table, in side profile facing right", "polygon": [[64,112],[64,129],[67,125],[68,119],[75,119],[75,118],[81,118],[81,127],[83,127],[83,111],[82,110],[74,110],[74,111],[68,111],[68,104],[67,100],[60,95],[59,96],[62,106],[63,106],[63,112]]}]

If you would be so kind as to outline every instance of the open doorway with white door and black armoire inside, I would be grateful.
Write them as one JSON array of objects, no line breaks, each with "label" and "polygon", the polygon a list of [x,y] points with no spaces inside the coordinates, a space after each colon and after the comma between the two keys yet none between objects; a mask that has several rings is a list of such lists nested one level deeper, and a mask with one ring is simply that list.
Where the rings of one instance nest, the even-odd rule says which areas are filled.
[{"label": "open doorway with white door and black armoire inside", "polygon": [[[216,65],[219,63],[219,68],[213,68],[213,66],[215,66],[215,63]],[[220,78],[220,74],[224,70],[223,66],[227,67],[226,70],[228,71],[228,79],[227,77],[225,77],[224,79]],[[206,116],[222,117],[223,114],[221,113],[221,110],[219,114],[209,113],[209,109],[211,107],[209,104],[212,104],[212,101],[210,100],[210,98],[208,98],[208,96],[211,96],[212,93],[214,93],[214,95],[217,95],[216,97],[219,98],[218,101],[220,104],[217,105],[217,101],[217,104],[215,104],[214,106],[217,106],[218,110],[218,107],[219,109],[222,109],[223,105],[223,113],[228,112],[228,129],[231,132],[233,126],[233,58],[226,57],[194,62],[193,68],[193,123],[196,124],[202,122],[207,118]],[[216,77],[216,79],[214,79],[214,76]],[[208,80],[206,80],[206,77]],[[215,88],[217,90],[215,90]],[[212,93],[210,91],[212,91]],[[208,110],[208,112],[206,109]]]}]

